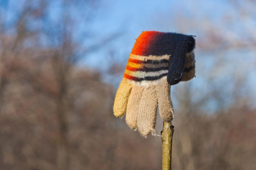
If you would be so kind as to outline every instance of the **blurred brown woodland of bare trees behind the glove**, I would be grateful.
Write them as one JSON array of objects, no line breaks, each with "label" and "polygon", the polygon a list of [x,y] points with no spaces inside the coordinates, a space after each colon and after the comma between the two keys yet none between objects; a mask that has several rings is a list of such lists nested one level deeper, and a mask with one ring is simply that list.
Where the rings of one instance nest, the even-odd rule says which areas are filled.
[{"label": "blurred brown woodland of bare trees behind the glove", "polygon": [[[74,39],[76,22],[68,10],[86,7],[84,20],[77,22],[90,27],[99,2],[60,2],[64,5],[57,23],[45,21],[51,2],[44,0],[36,1],[36,5],[28,1],[18,5],[19,14],[11,24],[3,19],[3,12],[0,15],[1,169],[161,169],[161,138],[143,138],[125,125],[124,118],[112,114],[116,86],[109,82],[120,80],[129,54],[125,62],[118,63],[120,60],[113,62],[111,58],[115,57],[112,49],[103,49],[109,54],[107,71],[79,64],[81,58],[104,48],[120,33],[84,45]],[[248,8],[256,7],[255,2],[230,4],[242,18],[237,22],[248,27],[245,21],[255,20],[255,11],[250,9],[256,8]],[[236,16],[223,16],[220,25],[227,17]],[[202,35],[196,39],[199,78],[194,81],[199,83],[180,83],[172,88],[173,169],[254,169],[255,96],[245,84],[245,75],[251,75],[255,60],[237,65],[236,60],[243,56],[226,54],[234,49],[243,55],[255,54],[256,32],[238,35],[207,18],[191,22],[182,14],[174,21],[180,32],[194,29]],[[31,29],[30,22],[37,27]],[[84,41],[90,38],[86,32],[81,36]],[[42,37],[46,45],[40,43]],[[213,66],[204,66],[205,56],[212,59]],[[157,117],[157,134],[161,128],[161,118]]]}]

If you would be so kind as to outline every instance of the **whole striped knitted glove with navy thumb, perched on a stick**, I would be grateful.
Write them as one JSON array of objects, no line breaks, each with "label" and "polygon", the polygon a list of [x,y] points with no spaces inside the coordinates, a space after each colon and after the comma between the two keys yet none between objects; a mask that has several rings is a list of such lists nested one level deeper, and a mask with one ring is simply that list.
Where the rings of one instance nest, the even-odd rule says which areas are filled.
[{"label": "whole striped knitted glove with navy thumb, perched on a stick", "polygon": [[136,40],[116,92],[114,115],[142,136],[155,128],[156,108],[165,122],[173,119],[171,85],[195,77],[195,39],[179,33],[145,31]]}]

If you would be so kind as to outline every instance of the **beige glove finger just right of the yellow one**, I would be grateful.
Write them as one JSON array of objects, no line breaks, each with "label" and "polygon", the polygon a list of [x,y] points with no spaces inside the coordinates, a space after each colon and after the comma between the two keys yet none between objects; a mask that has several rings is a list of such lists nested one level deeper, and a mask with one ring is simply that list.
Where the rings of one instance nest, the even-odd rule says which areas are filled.
[{"label": "beige glove finger just right of the yellow one", "polygon": [[137,118],[140,98],[142,96],[143,87],[138,85],[132,86],[132,91],[127,103],[126,109],[126,123],[131,129],[137,129]]}]

